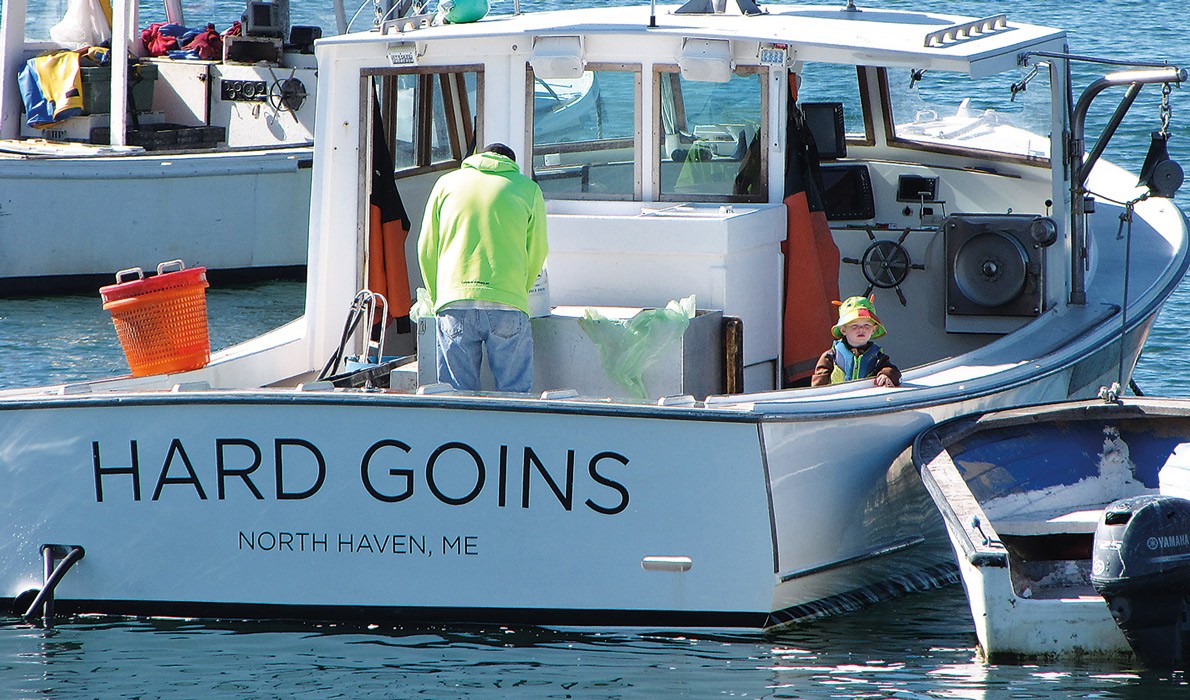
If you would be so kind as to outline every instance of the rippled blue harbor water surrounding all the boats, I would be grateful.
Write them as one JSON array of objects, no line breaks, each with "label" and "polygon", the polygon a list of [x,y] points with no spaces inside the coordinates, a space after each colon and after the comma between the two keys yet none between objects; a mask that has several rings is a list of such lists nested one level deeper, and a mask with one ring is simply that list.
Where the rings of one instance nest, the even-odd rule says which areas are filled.
[{"label": "rippled blue harbor water surrounding all the boats", "polygon": [[[553,7],[589,0],[555,0]],[[65,0],[33,2],[45,27]],[[370,5],[370,0],[368,0]],[[837,5],[841,6],[840,0]],[[219,29],[238,0],[184,2],[188,24]],[[321,7],[327,5],[327,7]],[[507,5],[507,6],[506,6]],[[875,2],[860,0],[860,7]],[[528,10],[532,4],[522,2]],[[1190,64],[1184,8],[1140,0],[882,0],[1065,27],[1071,50]],[[509,4],[497,4],[506,12]],[[355,7],[349,8],[349,15]],[[313,14],[309,14],[313,13]],[[162,13],[163,15],[163,13]],[[328,4],[295,2],[296,24],[333,31]],[[159,19],[143,15],[142,24]],[[370,23],[368,8],[356,26]],[[1095,75],[1081,69],[1082,87]],[[1171,152],[1190,167],[1190,100],[1175,90]],[[1108,157],[1132,170],[1158,126],[1148,88]],[[1101,98],[1094,124],[1114,107]],[[1190,208],[1185,195],[1178,199]],[[301,311],[303,286],[270,282],[209,292],[212,344],[243,340]],[[1171,299],[1136,370],[1147,393],[1190,395],[1183,318],[1190,287]],[[126,371],[94,295],[0,299],[0,388]],[[2,488],[2,485],[0,485]],[[376,629],[180,620],[71,620],[52,631],[0,618],[0,698],[1186,698],[1183,674],[1113,664],[987,665],[959,587],[903,596],[803,625],[779,637],[502,627]]]}]

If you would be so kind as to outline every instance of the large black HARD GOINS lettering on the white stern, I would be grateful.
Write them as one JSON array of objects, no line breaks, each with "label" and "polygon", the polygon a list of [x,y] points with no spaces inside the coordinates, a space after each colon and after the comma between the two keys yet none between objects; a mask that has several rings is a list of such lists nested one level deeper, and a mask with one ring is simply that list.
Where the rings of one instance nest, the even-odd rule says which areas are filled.
[{"label": "large black HARD GOINS lettering on the white stern", "polygon": [[[156,465],[157,460],[151,455],[159,451],[129,440],[129,461],[118,463],[113,462],[111,452],[105,455],[99,440],[90,445],[96,502],[104,502],[105,498],[111,501],[113,495],[140,501],[142,477],[151,474],[156,475],[151,501],[159,500],[167,488],[170,494],[181,490],[198,500],[208,500],[212,485],[220,501],[236,498],[237,492],[250,494],[255,500],[268,496],[278,501],[303,500],[314,498],[328,476],[322,451],[300,438],[273,440],[271,489],[261,488],[270,481],[270,470],[261,470],[265,451],[246,438],[215,438],[213,450],[206,445],[187,448],[180,438],[174,438],[161,457],[161,467],[144,470],[142,462]],[[123,449],[119,451],[123,457]],[[466,443],[447,442],[426,454],[397,439],[382,439],[364,450],[358,475],[368,495],[388,504],[426,493],[451,506],[494,500],[501,508],[530,508],[545,501],[572,511],[578,498],[581,507],[615,515],[628,507],[628,488],[610,475],[622,474],[627,465],[627,457],[608,450],[587,458],[580,457],[574,449],[564,454],[560,449],[538,452],[528,445],[481,450]],[[352,471],[353,468],[334,469],[330,474],[333,477]]]}]

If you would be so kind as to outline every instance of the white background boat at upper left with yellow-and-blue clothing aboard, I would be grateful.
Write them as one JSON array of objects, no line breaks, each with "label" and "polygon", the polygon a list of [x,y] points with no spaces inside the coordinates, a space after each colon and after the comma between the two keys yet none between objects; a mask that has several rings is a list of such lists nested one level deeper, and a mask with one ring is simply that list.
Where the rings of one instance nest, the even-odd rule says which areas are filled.
[{"label": "white background boat at upper left with yellow-and-blue clothing aboard", "polygon": [[[142,30],[165,19],[163,2],[143,5],[130,18],[136,55],[145,54]],[[26,60],[62,48],[46,30],[65,13],[64,4],[27,6],[4,2],[6,17],[30,21],[26,32],[15,21],[2,27],[0,294],[93,289],[118,270],[176,258],[224,280],[301,274],[317,101],[311,43],[333,33],[333,21],[301,25],[299,17],[282,26],[270,18],[245,23],[211,60],[144,57],[130,68],[132,107],[123,119],[111,110],[117,71],[84,62],[83,113],[33,129],[17,74]],[[245,6],[171,19],[221,33]],[[58,37],[86,39],[75,35]],[[112,139],[120,124],[126,137]]]}]

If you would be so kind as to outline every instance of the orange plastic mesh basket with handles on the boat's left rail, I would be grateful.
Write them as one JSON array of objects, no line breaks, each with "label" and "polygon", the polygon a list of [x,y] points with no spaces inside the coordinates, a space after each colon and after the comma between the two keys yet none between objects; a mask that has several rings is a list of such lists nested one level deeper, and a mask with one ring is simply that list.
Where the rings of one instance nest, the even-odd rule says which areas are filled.
[{"label": "orange plastic mesh basket with handles on the boat's left rail", "polygon": [[[176,271],[165,271],[176,265]],[[120,270],[117,283],[100,288],[132,376],[186,371],[211,361],[207,332],[207,269],[183,268],[182,261],[157,265],[144,277],[140,268]],[[136,280],[121,281],[137,275]]]}]

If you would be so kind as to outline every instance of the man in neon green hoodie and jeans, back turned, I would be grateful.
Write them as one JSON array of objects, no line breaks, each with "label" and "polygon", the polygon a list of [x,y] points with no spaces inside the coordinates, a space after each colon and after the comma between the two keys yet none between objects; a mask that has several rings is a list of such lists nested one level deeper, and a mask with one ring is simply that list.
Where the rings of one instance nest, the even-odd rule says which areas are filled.
[{"label": "man in neon green hoodie and jeans, back turned", "polygon": [[480,388],[482,348],[500,392],[528,392],[528,290],[549,243],[545,198],[502,143],[438,179],[426,202],[418,261],[438,317],[438,381]]}]

